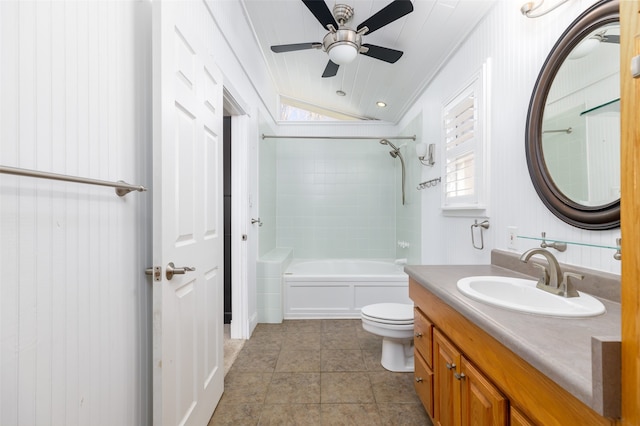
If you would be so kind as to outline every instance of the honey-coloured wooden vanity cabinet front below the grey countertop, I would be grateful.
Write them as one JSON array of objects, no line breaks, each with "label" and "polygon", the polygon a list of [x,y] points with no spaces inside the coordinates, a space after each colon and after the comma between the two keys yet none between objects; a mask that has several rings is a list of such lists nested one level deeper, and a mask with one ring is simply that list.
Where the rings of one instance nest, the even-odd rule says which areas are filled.
[{"label": "honey-coloured wooden vanity cabinet front below the grey countertop", "polygon": [[[605,418],[409,279],[415,387],[435,425],[608,425]],[[425,314],[426,313],[426,314]]]}]

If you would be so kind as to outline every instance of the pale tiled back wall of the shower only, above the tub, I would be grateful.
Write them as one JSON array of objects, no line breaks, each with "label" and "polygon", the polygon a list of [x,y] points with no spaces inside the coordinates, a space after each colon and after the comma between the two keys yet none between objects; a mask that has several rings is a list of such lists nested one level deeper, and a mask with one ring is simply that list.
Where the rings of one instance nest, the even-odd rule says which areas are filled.
[{"label": "pale tiled back wall of the shower only, above the tub", "polygon": [[297,258],[393,258],[398,160],[376,140],[278,141],[276,245]]}]

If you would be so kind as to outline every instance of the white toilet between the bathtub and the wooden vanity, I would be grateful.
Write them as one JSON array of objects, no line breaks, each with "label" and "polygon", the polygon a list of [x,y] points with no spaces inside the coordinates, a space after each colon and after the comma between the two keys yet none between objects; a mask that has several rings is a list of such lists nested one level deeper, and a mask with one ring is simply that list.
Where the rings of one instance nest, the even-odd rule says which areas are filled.
[{"label": "white toilet between the bathtub and the wooden vanity", "polygon": [[413,305],[376,303],[361,309],[362,328],[382,337],[380,363],[389,371],[413,371]]}]

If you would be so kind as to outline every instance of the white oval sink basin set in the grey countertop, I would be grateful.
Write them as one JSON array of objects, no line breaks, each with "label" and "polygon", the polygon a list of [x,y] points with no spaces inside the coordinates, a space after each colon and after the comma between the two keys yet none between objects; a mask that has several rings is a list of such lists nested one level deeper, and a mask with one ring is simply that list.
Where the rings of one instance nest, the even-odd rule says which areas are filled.
[{"label": "white oval sink basin set in the grey countertop", "polygon": [[458,290],[471,299],[513,311],[556,317],[593,317],[605,313],[598,299],[585,293],[562,297],[536,288],[537,281],[477,276],[458,281]]}]

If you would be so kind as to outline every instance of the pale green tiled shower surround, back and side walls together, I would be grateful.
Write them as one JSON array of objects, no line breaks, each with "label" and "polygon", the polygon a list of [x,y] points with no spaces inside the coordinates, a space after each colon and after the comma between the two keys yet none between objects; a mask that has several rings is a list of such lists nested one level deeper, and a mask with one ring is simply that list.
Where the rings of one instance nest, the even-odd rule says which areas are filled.
[{"label": "pale green tiled shower surround, back and side walls together", "polygon": [[[300,258],[421,258],[421,198],[416,190],[424,167],[415,154],[422,141],[417,115],[392,139],[406,167],[402,204],[402,167],[378,137],[359,139],[266,138],[260,142],[259,257],[291,248]],[[267,128],[261,129],[269,133]],[[316,137],[308,129],[298,134]],[[344,134],[349,134],[345,131]],[[416,136],[416,140],[411,136]],[[400,248],[398,241],[409,244]]]}]

